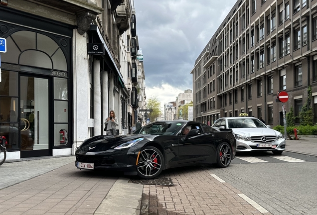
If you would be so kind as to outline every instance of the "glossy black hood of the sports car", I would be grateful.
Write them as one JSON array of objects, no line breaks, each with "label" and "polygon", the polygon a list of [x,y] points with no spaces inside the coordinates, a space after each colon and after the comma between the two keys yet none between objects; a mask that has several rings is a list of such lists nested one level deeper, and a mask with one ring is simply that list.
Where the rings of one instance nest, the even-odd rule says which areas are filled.
[{"label": "glossy black hood of the sports car", "polygon": [[[76,154],[85,154],[86,152],[104,152],[113,150],[115,147],[138,138],[151,139],[153,135],[127,134],[120,136],[99,135],[86,139],[76,150]],[[138,144],[138,143],[137,143]]]}]

